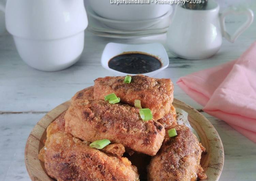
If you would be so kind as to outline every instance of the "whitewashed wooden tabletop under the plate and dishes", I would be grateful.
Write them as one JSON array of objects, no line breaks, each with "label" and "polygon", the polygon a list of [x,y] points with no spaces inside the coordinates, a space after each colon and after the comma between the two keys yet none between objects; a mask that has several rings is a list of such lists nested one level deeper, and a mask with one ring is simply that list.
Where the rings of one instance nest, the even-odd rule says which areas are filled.
[{"label": "whitewashed wooden tabletop under the plate and dishes", "polygon": [[[256,10],[255,2],[250,6]],[[234,18],[227,22],[231,31],[241,24]],[[234,44],[224,40],[221,50],[210,59],[184,60],[168,52],[169,67],[155,77],[171,78],[176,82],[179,77],[194,71],[236,59],[255,40],[256,21]],[[112,76],[100,65],[101,53],[109,42],[165,44],[165,36],[125,40],[96,37],[86,32],[85,48],[79,62],[63,71],[42,72],[22,62],[9,34],[0,35],[0,181],[29,180],[24,148],[36,122],[78,90],[92,85],[97,77]],[[175,86],[174,95],[196,109],[202,108],[178,86]],[[225,162],[220,180],[256,180],[256,144],[225,122],[203,114],[212,122],[223,142]]]}]

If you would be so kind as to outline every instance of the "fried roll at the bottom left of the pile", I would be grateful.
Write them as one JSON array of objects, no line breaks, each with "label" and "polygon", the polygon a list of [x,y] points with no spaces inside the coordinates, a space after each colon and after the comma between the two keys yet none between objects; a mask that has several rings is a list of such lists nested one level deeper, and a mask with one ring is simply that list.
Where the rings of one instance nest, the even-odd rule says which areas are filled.
[{"label": "fried roll at the bottom left of the pile", "polygon": [[47,139],[45,169],[58,181],[139,180],[137,168],[125,158],[116,158],[91,148],[63,132]]}]

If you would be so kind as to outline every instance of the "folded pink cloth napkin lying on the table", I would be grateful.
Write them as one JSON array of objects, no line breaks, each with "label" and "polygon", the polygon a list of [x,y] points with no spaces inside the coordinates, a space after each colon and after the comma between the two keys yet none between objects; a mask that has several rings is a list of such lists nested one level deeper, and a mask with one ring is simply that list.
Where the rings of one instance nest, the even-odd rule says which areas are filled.
[{"label": "folded pink cloth napkin lying on the table", "polygon": [[177,84],[206,113],[256,143],[256,42],[239,59],[181,77]]}]

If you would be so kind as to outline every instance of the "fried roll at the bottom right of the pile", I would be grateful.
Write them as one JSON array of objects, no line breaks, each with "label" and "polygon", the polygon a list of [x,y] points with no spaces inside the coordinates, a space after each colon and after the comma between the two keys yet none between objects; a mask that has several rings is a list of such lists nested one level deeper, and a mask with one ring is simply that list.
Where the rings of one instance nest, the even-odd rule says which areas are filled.
[{"label": "fried roll at the bottom right of the pile", "polygon": [[205,179],[200,166],[201,145],[196,136],[184,125],[174,127],[177,136],[166,138],[148,167],[150,181],[192,181],[197,176]]}]

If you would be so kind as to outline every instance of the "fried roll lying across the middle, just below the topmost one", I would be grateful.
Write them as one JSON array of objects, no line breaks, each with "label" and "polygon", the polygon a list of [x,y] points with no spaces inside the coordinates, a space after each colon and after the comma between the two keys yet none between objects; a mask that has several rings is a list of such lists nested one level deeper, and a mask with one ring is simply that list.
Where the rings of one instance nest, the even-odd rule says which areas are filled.
[{"label": "fried roll lying across the middle, just below the topmost one", "polygon": [[134,151],[155,155],[165,136],[163,125],[155,120],[143,121],[139,109],[103,100],[76,100],[65,114],[65,131],[93,142],[109,139]]}]

